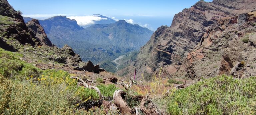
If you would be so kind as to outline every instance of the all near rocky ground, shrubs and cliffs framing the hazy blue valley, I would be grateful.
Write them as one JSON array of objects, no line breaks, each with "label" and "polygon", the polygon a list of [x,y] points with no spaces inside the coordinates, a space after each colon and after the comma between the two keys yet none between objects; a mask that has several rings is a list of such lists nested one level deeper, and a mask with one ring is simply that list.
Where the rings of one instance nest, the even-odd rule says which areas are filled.
[{"label": "all near rocky ground, shrubs and cliffs framing the hazy blue valley", "polygon": [[[56,47],[40,21],[25,24],[19,11],[0,0],[0,114],[255,114],[256,11],[248,12],[250,5],[255,6],[251,1],[199,1],[176,15],[171,27],[153,34],[148,44],[159,45],[147,44],[140,53],[109,61],[135,61],[130,68],[120,64],[118,69],[130,71],[119,77],[83,62],[68,45]],[[209,18],[211,13],[219,17]],[[137,77],[128,76],[140,63],[145,64]],[[141,70],[147,73],[138,77]],[[150,72],[155,75],[148,77]]]}]

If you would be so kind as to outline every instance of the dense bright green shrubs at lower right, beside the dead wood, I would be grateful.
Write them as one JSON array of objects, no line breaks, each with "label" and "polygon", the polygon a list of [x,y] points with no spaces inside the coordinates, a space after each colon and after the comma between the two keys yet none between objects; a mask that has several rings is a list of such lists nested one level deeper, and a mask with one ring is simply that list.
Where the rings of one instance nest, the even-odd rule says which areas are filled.
[{"label": "dense bright green shrubs at lower right, beside the dead wood", "polygon": [[177,90],[169,100],[169,114],[255,114],[256,77],[217,76]]}]

